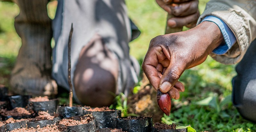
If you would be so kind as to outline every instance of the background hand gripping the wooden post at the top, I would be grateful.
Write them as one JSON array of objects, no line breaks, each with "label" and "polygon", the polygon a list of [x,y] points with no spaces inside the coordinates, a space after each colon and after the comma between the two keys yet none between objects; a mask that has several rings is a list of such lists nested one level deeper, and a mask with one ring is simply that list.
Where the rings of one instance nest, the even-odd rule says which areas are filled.
[{"label": "background hand gripping the wooden post at the top", "polygon": [[174,17],[167,20],[167,25],[193,28],[200,16],[198,0],[156,0],[156,3]]}]

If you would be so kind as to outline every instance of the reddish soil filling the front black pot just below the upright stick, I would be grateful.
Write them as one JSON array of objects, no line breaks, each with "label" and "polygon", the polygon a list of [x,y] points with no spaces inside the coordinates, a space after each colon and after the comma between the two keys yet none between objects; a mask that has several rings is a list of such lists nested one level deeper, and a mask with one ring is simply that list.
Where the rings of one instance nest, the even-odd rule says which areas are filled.
[{"label": "reddish soil filling the front black pot just below the upright stick", "polygon": [[[85,115],[88,116],[88,115]],[[60,124],[65,125],[65,126],[76,126],[76,125],[81,125],[81,124],[87,124],[93,120],[92,115],[88,116],[87,118],[83,119],[81,117],[81,120],[74,120],[73,117],[71,119],[62,119],[60,121]]]}]

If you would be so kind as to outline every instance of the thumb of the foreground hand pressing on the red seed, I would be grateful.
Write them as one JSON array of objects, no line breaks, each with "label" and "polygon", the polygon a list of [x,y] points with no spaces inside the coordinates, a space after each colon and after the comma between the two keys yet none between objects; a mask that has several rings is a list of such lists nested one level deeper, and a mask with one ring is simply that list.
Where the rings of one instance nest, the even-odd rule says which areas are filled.
[{"label": "thumb of the foreground hand pressing on the red seed", "polygon": [[171,61],[160,80],[160,91],[163,93],[170,91],[185,69],[184,64]]}]

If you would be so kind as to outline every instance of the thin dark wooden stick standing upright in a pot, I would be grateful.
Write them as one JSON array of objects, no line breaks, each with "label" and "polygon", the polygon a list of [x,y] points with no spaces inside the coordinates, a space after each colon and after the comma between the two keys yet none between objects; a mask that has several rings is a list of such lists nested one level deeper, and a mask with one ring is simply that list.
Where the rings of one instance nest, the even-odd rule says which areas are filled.
[{"label": "thin dark wooden stick standing upright in a pot", "polygon": [[72,33],[73,33],[73,23],[71,24],[71,30],[69,33],[69,38],[68,38],[68,84],[69,84],[69,107],[73,106],[73,86],[71,83],[71,64],[70,64],[70,52],[71,52],[71,38],[72,38]]}]

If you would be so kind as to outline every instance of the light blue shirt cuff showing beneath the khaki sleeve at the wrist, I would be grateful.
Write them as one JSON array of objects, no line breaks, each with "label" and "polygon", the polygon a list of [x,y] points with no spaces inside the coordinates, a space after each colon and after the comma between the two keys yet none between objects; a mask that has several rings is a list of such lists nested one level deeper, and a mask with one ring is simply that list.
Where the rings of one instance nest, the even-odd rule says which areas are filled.
[{"label": "light blue shirt cuff showing beneath the khaki sleeve at the wrist", "polygon": [[228,27],[228,25],[225,22],[223,22],[220,18],[215,16],[206,16],[204,17],[202,22],[203,21],[210,21],[217,24],[225,40],[224,43],[220,44],[220,46],[218,46],[216,49],[212,51],[213,53],[219,55],[224,54],[236,43],[236,36]]}]

